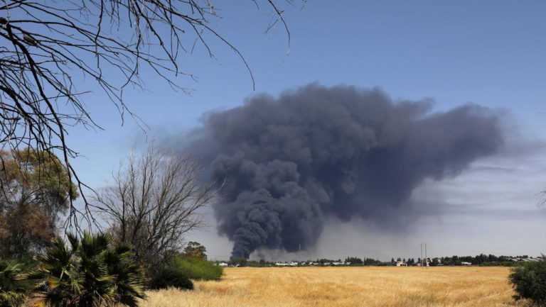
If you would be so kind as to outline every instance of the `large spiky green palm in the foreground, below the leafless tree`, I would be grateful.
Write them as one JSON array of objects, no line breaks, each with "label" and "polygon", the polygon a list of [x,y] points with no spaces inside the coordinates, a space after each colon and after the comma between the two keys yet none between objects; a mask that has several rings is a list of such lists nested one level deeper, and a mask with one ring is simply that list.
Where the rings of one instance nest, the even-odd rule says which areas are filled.
[{"label": "large spiky green palm in the foreground, below the leafless tree", "polygon": [[113,247],[106,234],[68,235],[69,245],[54,240],[29,278],[38,279],[35,307],[138,306],[144,298],[140,269],[129,246]]}]

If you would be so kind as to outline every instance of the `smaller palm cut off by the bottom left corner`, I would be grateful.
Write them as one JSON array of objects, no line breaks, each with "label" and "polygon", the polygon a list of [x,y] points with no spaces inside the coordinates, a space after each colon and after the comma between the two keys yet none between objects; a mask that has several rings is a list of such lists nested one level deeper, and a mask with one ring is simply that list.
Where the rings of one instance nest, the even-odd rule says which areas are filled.
[{"label": "smaller palm cut off by the bottom left corner", "polygon": [[25,300],[20,273],[19,264],[0,262],[0,307],[21,306]]}]

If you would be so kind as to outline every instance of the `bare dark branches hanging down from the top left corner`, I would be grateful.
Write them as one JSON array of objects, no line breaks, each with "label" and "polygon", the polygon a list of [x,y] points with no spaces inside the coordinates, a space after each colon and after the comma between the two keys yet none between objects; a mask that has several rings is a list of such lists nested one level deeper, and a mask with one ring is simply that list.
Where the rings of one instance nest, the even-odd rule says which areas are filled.
[{"label": "bare dark branches hanging down from the top left corner", "polygon": [[[282,4],[305,0],[251,1],[269,7],[273,16],[269,30],[277,23],[287,29]],[[128,86],[143,86],[142,70],[159,75],[173,89],[187,91],[173,81],[178,75],[193,78],[181,70],[181,54],[200,43],[214,57],[211,40],[225,43],[248,68],[240,51],[210,26],[220,18],[213,2],[1,0],[0,149],[30,147],[55,153],[81,191],[82,182],[69,160],[78,153],[66,135],[73,125],[100,129],[82,94],[98,87],[117,106],[122,122],[126,114],[139,121],[123,93]],[[250,77],[254,84],[252,73]],[[84,78],[98,86],[81,82]],[[71,203],[70,216],[78,212]],[[81,213],[89,217],[89,207]]]}]

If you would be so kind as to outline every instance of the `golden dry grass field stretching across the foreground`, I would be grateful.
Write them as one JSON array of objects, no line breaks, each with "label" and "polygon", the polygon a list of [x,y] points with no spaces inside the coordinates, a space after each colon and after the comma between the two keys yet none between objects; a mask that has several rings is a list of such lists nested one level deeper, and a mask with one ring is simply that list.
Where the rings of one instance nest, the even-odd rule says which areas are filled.
[{"label": "golden dry grass field stretching across the foreground", "polygon": [[142,307],[494,307],[514,303],[505,267],[228,268],[194,291],[151,291]]}]

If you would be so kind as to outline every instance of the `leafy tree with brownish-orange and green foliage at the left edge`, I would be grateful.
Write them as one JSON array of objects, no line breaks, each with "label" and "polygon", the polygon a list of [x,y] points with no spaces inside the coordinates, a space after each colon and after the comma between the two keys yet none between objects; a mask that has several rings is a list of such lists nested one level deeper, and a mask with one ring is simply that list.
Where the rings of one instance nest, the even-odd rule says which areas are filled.
[{"label": "leafy tree with brownish-orange and green foliage at the left edge", "polygon": [[36,255],[55,237],[58,214],[77,198],[77,188],[45,150],[0,150],[0,159],[0,257]]}]

